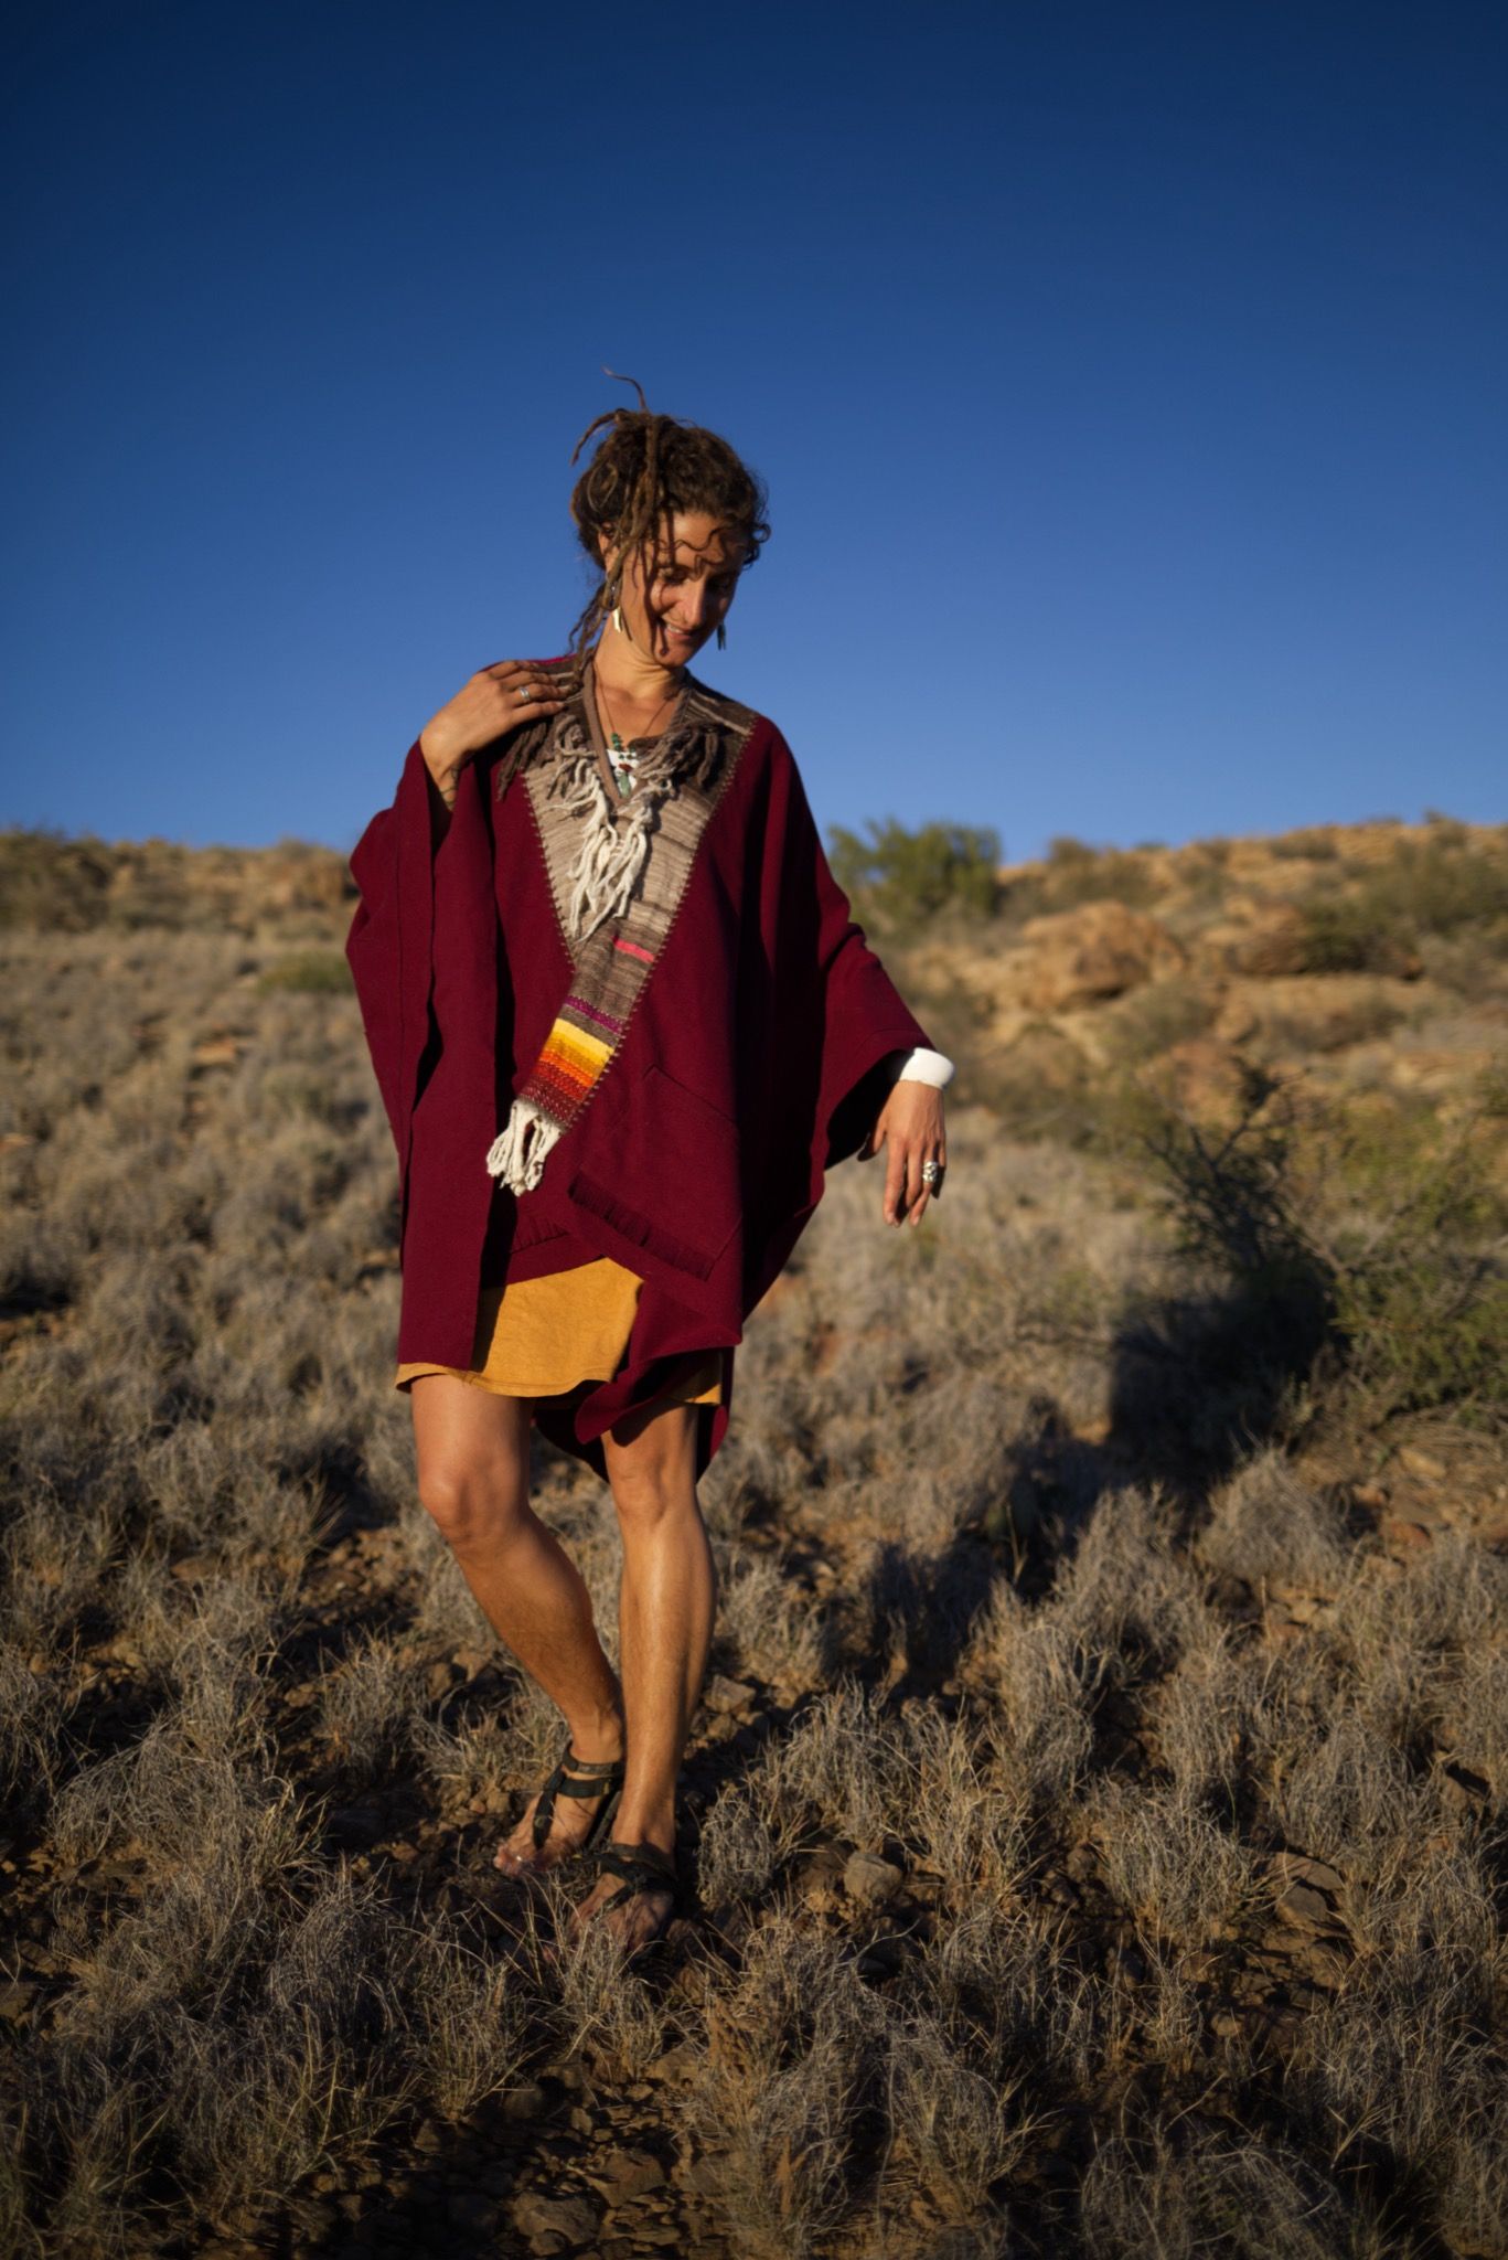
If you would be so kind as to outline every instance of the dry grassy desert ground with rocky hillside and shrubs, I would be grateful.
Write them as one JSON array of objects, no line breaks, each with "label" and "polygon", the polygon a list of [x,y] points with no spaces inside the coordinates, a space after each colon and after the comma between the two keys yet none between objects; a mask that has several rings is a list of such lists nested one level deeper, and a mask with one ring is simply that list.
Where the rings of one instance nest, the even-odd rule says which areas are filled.
[{"label": "dry grassy desert ground with rocky hillside and shrubs", "polygon": [[947,1184],[748,1322],[640,1975],[491,1864],[339,857],[0,841],[7,2251],[1508,2251],[1508,829],[913,847]]}]

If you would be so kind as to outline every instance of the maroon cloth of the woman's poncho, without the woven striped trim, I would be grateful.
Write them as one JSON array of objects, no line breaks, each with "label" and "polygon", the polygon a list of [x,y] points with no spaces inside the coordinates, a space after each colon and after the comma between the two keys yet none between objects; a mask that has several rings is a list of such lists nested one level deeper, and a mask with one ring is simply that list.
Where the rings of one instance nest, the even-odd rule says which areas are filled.
[{"label": "maroon cloth of the woman's poncho, without the woven striped trim", "polygon": [[[705,696],[705,687],[703,696]],[[717,694],[710,694],[717,698]],[[540,836],[500,748],[473,759],[434,850],[418,744],[362,834],[346,956],[402,1175],[398,1358],[468,1367],[486,1277],[613,1257],[644,1281],[624,1367],[538,1424],[606,1478],[601,1433],[723,1349],[696,1474],[733,1403],[733,1347],[884,1103],[891,1051],[929,1044],[852,922],[789,746],[757,719],[674,924],[590,1105],[540,1184],[486,1153],[572,981]]]}]

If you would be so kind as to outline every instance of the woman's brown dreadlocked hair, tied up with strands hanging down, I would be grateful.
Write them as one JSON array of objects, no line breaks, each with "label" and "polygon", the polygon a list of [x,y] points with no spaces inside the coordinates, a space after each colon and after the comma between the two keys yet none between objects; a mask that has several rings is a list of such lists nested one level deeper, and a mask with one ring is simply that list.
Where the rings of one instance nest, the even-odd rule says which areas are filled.
[{"label": "woman's brown dreadlocked hair, tied up with strands hanging down", "polygon": [[[753,565],[769,540],[764,484],[728,441],[705,425],[656,416],[635,377],[617,377],[613,368],[606,375],[617,384],[633,384],[640,405],[606,409],[586,427],[570,457],[577,463],[588,441],[604,434],[570,497],[577,538],[599,574],[572,628],[572,664],[561,669],[577,683],[590,644],[619,599],[624,567],[638,558],[644,583],[653,579],[656,560],[671,549],[676,513],[705,511],[742,542],[746,565]],[[613,572],[604,567],[599,540],[604,533],[615,551]],[[513,732],[497,764],[497,798],[529,766],[547,734],[547,716]]]}]

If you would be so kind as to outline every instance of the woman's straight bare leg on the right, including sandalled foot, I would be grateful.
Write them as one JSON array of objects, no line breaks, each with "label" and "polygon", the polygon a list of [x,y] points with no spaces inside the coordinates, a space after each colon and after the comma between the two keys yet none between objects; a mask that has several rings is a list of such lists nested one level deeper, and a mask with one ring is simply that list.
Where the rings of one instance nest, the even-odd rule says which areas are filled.
[{"label": "woman's straight bare leg on the right, including sandalled foot", "polygon": [[[717,1614],[717,1571],[696,1503],[696,1408],[660,1406],[604,1435],[624,1539],[619,1648],[629,1772],[613,1840],[676,1849],[676,1776],[701,1695]],[[619,1878],[604,1874],[577,1907],[588,1921]],[[642,1892],[604,1916],[624,1946],[667,1921],[667,1892]]]}]

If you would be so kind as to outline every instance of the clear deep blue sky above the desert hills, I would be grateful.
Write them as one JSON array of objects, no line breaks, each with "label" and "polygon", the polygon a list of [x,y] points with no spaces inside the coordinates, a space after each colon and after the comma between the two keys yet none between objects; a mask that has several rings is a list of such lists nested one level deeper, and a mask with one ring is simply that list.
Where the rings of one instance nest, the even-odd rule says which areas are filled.
[{"label": "clear deep blue sky above the desert hills", "polygon": [[0,820],[348,847],[604,362],[769,479],[823,825],[1508,814],[1501,5],[11,20]]}]

